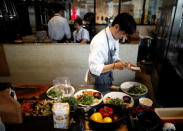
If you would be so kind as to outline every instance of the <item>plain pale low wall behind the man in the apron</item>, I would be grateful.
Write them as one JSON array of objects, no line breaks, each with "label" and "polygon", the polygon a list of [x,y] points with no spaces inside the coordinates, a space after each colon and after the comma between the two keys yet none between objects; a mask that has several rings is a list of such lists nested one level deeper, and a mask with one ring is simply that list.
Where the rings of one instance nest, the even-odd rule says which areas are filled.
[{"label": "plain pale low wall behind the man in the apron", "polygon": [[[78,44],[5,44],[4,50],[10,76],[0,82],[14,84],[49,84],[56,77],[67,76],[71,84],[84,83],[88,69],[89,45]],[[138,45],[120,45],[120,58],[136,63]],[[124,70],[114,72],[115,84],[133,80],[135,73]]]}]

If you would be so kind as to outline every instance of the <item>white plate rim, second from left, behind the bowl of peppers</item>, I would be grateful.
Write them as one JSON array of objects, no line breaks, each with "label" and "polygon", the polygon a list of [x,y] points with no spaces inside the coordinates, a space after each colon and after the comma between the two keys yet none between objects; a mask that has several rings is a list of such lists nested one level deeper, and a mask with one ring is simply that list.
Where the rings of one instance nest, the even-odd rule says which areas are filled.
[{"label": "white plate rim, second from left, behind the bowl of peppers", "polygon": [[[93,91],[93,92],[99,92],[97,90],[94,90],[94,89],[84,89],[84,90],[80,90],[78,92],[76,92],[74,94],[74,97],[77,99],[80,95],[83,95],[83,91]],[[79,104],[80,106],[96,106],[98,104],[100,104],[102,102],[102,99],[103,99],[103,95],[101,92],[99,92],[101,94],[101,99],[99,99],[99,101],[97,103],[93,103],[91,105],[83,105],[83,104]]]}]

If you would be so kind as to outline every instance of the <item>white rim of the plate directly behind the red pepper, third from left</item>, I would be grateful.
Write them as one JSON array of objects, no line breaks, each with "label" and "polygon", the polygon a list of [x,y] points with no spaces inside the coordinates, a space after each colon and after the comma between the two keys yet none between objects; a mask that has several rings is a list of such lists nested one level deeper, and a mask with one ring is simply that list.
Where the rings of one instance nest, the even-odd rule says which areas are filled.
[{"label": "white rim of the plate directly behind the red pepper, third from left", "polygon": [[[116,91],[110,92],[110,93],[107,93],[104,95],[103,102],[104,103],[106,102],[107,97],[110,97],[112,99],[115,99],[115,98],[123,99],[123,96],[129,96],[129,95],[126,93],[123,93],[123,92],[116,92]],[[131,97],[131,96],[129,96],[129,97]],[[131,97],[131,102],[129,104],[127,104],[127,107],[133,107],[133,105],[134,105],[134,100]]]}]

